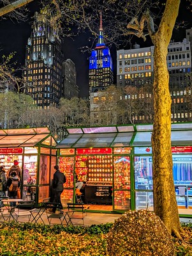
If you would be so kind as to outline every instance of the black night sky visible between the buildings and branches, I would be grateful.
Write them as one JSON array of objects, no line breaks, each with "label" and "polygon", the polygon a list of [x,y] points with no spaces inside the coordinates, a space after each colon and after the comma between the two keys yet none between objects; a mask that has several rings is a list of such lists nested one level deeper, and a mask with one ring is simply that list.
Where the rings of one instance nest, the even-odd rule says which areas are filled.
[{"label": "black night sky visible between the buildings and branches", "polygon": [[[185,8],[185,2],[181,1],[181,8],[179,10],[179,17],[177,20],[188,20],[188,26],[186,28],[192,27],[192,13]],[[1,55],[9,54],[10,52],[16,51],[16,58],[20,65],[24,65],[25,60],[25,52],[26,52],[26,44],[27,39],[31,35],[31,19],[33,16],[33,12],[38,10],[38,6],[36,3],[28,4],[31,11],[31,15],[29,15],[29,20],[27,22],[15,22],[13,23],[11,20],[1,20],[0,22],[0,31],[1,31],[1,39],[0,39],[0,49]],[[98,21],[99,27],[99,21]],[[105,31],[105,27],[104,27]],[[186,37],[185,29],[181,29],[180,31],[174,30],[172,39],[175,42],[182,41],[183,38]],[[135,36],[133,38],[132,44],[140,44],[141,47],[148,47],[151,45],[150,40],[141,42]],[[74,63],[77,70],[77,84],[80,90],[80,97],[87,97],[89,92],[89,53],[82,53],[80,51],[80,47],[90,45],[88,41],[88,36],[86,34],[82,34],[80,36],[75,37],[73,40],[70,38],[64,39],[63,42],[63,53],[64,58],[70,58]],[[116,54],[115,49],[111,49],[112,59],[114,62],[114,74],[116,73]],[[116,77],[114,76],[114,82],[116,81]]]}]

